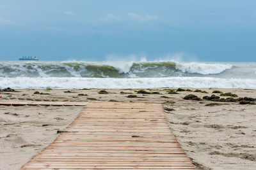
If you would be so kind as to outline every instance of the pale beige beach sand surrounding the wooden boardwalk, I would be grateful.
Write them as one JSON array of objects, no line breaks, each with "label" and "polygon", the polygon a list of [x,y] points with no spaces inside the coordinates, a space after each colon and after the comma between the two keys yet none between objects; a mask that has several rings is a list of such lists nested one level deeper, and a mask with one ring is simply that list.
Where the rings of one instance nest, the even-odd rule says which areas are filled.
[{"label": "pale beige beach sand surrounding the wooden boardwalk", "polygon": [[[213,101],[187,101],[188,94],[211,96],[216,89],[167,94],[166,89],[145,89],[160,94],[136,94],[136,89],[44,90],[19,89],[0,92],[1,100],[12,101],[124,101],[162,103],[166,118],[196,169],[255,169],[256,105]],[[138,90],[138,89],[137,89]],[[191,89],[195,90],[195,89]],[[256,97],[256,90],[217,89],[239,97]],[[35,91],[43,94],[33,94]],[[130,94],[138,97],[128,98]],[[78,96],[86,94],[88,96]],[[216,94],[220,96],[220,94]],[[161,97],[166,96],[169,98]],[[226,98],[226,97],[225,97]],[[209,103],[220,105],[205,106]],[[19,169],[33,155],[52,143],[77,117],[79,106],[0,106],[0,169]]]}]

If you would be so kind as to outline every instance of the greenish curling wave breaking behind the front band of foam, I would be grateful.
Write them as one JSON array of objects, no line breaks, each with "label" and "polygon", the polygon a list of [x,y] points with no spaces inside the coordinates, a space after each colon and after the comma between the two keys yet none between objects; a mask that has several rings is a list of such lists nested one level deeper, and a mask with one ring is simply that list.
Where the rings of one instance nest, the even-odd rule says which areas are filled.
[{"label": "greenish curling wave breaking behind the front band of foam", "polygon": [[200,62],[0,62],[1,77],[150,78],[220,74],[232,64]]}]

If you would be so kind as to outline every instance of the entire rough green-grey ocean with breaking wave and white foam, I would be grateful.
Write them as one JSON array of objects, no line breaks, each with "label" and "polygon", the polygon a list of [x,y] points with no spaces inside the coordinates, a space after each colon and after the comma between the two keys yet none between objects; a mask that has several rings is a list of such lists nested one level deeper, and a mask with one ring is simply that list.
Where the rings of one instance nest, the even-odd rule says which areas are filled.
[{"label": "entire rough green-grey ocean with breaking wave and white foam", "polygon": [[256,62],[0,61],[0,89],[256,89]]}]

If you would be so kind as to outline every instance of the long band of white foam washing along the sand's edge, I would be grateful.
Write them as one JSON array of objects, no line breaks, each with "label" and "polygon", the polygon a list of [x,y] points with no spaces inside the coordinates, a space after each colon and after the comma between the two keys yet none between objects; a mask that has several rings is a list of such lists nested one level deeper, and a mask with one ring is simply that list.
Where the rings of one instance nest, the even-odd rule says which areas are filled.
[{"label": "long band of white foam washing along the sand's edge", "polygon": [[157,87],[256,89],[256,79],[172,77],[172,78],[1,78],[0,88],[13,89],[126,89]]}]

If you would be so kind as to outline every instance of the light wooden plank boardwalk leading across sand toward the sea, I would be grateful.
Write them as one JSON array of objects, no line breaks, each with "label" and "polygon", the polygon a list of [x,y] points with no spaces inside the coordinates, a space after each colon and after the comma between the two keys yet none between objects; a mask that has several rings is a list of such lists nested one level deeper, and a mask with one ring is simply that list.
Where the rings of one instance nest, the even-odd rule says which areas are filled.
[{"label": "light wooden plank boardwalk leading across sand toward the sea", "polygon": [[87,103],[21,169],[194,169],[161,104]]}]

